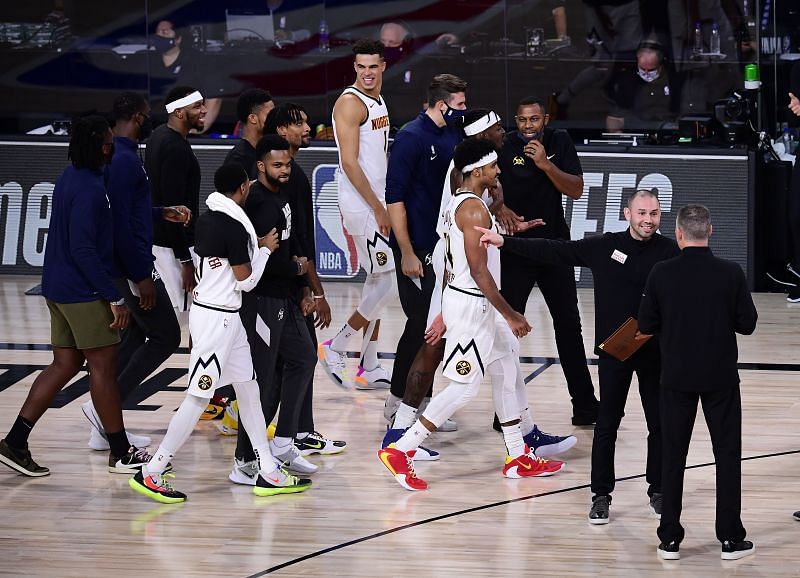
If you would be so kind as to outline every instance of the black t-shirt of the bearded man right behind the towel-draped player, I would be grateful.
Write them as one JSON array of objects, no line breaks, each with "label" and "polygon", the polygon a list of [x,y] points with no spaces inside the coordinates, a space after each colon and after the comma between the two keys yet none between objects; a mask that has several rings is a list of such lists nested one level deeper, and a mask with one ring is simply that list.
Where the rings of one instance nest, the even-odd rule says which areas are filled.
[{"label": "black t-shirt of the bearded man right behind the towel-draped player", "polygon": [[263,237],[273,228],[278,230],[278,248],[270,255],[261,280],[254,291],[259,295],[289,298],[298,285],[297,263],[292,257],[301,255],[293,227],[292,208],[283,190],[273,193],[260,182],[250,187],[244,211],[253,223],[256,235]]}]

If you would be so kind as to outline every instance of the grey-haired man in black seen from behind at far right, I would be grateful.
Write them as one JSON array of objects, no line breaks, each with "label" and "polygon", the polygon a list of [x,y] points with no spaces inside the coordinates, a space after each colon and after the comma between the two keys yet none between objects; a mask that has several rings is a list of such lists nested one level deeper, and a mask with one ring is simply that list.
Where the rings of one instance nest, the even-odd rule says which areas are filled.
[{"label": "grey-haired man in black seen from behind at far right", "polygon": [[639,306],[639,330],[659,334],[663,511],[658,555],[680,557],[683,472],[697,402],[711,434],[717,463],[717,539],[722,559],[755,551],[745,541],[742,509],[742,402],[736,333],[750,335],[758,314],[741,268],[714,257],[711,220],[702,205],[678,211],[675,237],[681,255],[653,267]]}]

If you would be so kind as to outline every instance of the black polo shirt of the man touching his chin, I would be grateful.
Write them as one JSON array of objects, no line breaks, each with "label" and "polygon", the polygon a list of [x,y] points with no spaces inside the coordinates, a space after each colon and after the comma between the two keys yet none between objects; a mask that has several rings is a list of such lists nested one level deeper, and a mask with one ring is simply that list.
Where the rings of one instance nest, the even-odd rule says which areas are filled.
[{"label": "black polo shirt of the man touching his chin", "polygon": [[[582,175],[575,145],[563,130],[545,128],[542,144],[550,162],[571,175]],[[544,219],[543,227],[519,233],[520,237],[569,239],[569,227],[561,205],[562,193],[550,178],[523,153],[525,142],[517,131],[506,135],[500,150],[500,183],[505,204],[526,220]]]}]

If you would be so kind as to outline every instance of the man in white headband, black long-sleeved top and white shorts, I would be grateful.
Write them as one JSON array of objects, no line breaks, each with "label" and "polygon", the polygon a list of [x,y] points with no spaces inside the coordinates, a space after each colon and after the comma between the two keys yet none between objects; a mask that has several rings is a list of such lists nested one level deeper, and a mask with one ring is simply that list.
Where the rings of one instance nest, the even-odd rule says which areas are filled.
[{"label": "man in white headband, black long-sleeved top and white shorts", "polygon": [[[202,131],[206,107],[203,95],[188,86],[176,86],[167,95],[166,124],[153,131],[145,152],[145,169],[150,178],[153,206],[183,205],[193,215],[200,203],[200,164],[186,140],[192,129]],[[160,221],[153,225],[155,268],[169,293],[181,324],[188,311],[195,286],[191,248],[194,222]]]}]

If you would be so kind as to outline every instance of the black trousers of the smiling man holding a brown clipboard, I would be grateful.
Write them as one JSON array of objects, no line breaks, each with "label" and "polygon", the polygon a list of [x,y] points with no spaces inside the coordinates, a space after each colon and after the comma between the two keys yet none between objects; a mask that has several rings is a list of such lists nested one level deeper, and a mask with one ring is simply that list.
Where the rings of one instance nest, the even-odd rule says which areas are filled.
[{"label": "black trousers of the smiling man holding a brown clipboard", "polygon": [[592,492],[607,496],[614,490],[614,449],[617,430],[625,415],[628,391],[633,372],[639,381],[647,421],[647,495],[661,493],[661,419],[658,413],[661,356],[657,343],[648,343],[627,361],[618,361],[608,355],[598,360],[600,376],[600,411],[594,426],[592,441]]}]

